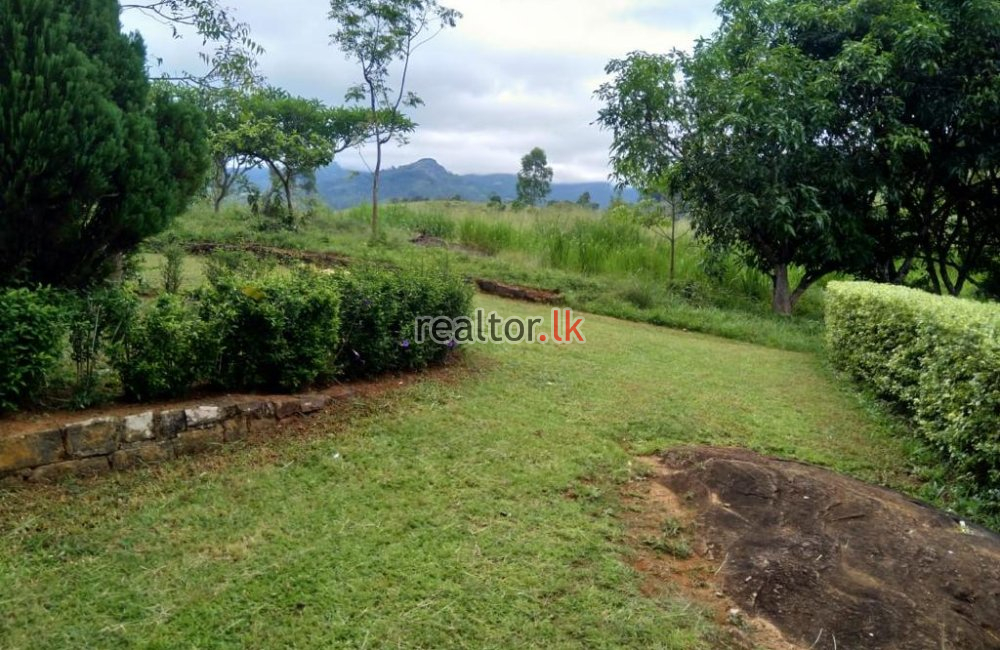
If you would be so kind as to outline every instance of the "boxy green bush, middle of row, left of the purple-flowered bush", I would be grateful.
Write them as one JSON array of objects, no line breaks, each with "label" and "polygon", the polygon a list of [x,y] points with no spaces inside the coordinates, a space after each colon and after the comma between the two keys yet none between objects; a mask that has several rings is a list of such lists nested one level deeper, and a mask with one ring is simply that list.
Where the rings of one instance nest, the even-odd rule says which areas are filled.
[{"label": "boxy green bush, middle of row, left of the purple-flowered bush", "polygon": [[340,299],[329,276],[304,269],[222,274],[200,299],[222,342],[219,385],[296,391],[333,376]]}]

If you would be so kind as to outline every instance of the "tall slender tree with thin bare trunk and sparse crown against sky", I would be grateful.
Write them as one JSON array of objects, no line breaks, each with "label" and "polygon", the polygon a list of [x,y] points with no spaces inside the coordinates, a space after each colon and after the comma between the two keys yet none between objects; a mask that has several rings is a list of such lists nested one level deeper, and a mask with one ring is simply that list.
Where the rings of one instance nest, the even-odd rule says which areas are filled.
[{"label": "tall slender tree with thin bare trunk and sparse crown against sky", "polygon": [[[401,108],[415,108],[423,101],[406,90],[413,53],[462,17],[437,0],[331,0],[330,19],[337,24],[331,36],[348,59],[361,68],[362,83],[347,93],[348,101],[367,105],[370,140],[375,144],[372,170],[372,239],[378,237],[378,192],[382,173],[382,147],[393,140],[405,142]],[[399,65],[393,88],[392,65]]]}]

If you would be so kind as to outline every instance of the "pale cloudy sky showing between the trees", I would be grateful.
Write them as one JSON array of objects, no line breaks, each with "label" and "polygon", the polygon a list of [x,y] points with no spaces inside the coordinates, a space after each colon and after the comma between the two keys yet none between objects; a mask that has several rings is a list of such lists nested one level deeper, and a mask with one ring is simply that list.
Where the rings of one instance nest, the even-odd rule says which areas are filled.
[{"label": "pale cloudy sky showing between the trees", "polygon": [[[289,92],[342,104],[357,69],[329,45],[335,25],[326,0],[231,0],[266,52],[268,81]],[[417,51],[408,88],[426,102],[403,148],[390,145],[389,166],[434,158],[460,174],[513,173],[542,147],[556,182],[604,180],[609,135],[593,125],[593,92],[608,60],[632,50],[690,49],[717,24],[712,0],[444,0],[464,15]],[[197,37],[137,11],[122,16],[146,39],[166,71],[199,69]],[[363,169],[371,152],[346,151],[337,162]]]}]

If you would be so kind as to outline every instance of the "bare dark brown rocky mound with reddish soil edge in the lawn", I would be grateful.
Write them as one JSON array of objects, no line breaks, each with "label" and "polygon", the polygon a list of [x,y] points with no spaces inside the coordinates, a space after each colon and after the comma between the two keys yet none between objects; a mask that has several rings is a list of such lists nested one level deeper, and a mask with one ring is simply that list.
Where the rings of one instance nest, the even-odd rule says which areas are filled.
[{"label": "bare dark brown rocky mound with reddish soil edge in the lawn", "polygon": [[672,450],[651,482],[647,501],[683,513],[692,562],[711,569],[704,591],[770,621],[780,643],[1000,648],[1000,537],[990,531],[745,450]]}]

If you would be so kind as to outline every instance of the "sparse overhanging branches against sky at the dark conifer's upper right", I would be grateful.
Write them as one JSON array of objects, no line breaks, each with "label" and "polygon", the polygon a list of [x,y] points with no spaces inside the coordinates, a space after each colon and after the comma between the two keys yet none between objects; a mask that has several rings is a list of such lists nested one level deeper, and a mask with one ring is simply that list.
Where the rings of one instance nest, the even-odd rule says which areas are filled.
[{"label": "sparse overhanging branches against sky at the dark conifer's upper right", "polygon": [[199,52],[206,72],[181,72],[167,79],[199,87],[250,87],[260,82],[257,57],[264,48],[250,34],[250,27],[238,20],[220,0],[136,0],[121,4],[121,11],[137,11],[152,17],[180,38],[193,29],[202,44],[214,45],[211,52]]}]

